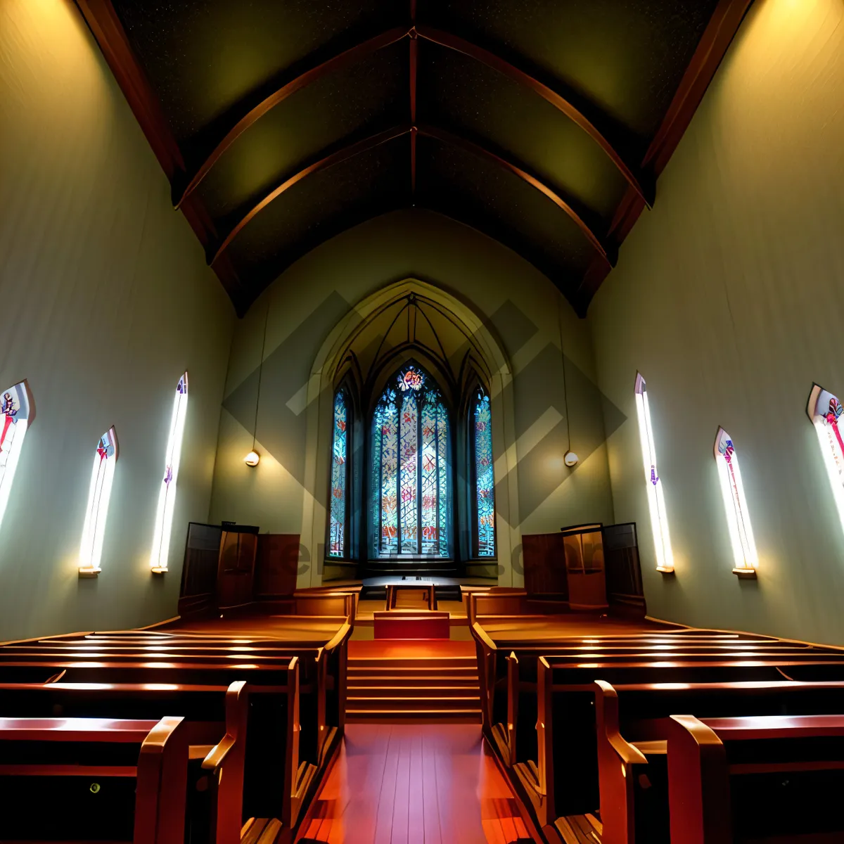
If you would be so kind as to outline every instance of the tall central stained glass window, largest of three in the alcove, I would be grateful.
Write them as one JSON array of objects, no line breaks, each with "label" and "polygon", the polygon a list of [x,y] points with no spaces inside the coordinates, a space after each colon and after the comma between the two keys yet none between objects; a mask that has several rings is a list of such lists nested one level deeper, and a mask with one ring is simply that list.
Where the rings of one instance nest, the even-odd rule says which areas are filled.
[{"label": "tall central stained glass window, largest of three in the alcove", "polygon": [[416,364],[398,371],[372,419],[372,536],[376,557],[447,557],[451,535],[448,413]]}]

